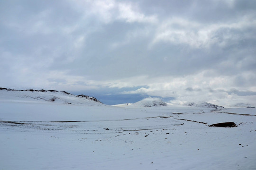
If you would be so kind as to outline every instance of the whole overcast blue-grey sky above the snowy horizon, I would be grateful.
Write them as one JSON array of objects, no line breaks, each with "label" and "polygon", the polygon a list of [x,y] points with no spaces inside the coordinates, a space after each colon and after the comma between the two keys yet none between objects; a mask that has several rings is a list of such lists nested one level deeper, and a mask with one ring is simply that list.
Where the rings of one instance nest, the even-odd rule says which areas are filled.
[{"label": "whole overcast blue-grey sky above the snowy horizon", "polygon": [[103,101],[256,104],[256,0],[0,0],[0,73]]}]

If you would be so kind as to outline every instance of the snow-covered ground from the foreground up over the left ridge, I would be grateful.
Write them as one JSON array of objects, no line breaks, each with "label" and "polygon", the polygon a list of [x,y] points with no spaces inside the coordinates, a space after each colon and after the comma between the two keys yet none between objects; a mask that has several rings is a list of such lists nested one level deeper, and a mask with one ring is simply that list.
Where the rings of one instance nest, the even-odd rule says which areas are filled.
[{"label": "snow-covered ground from the foreground up over the left ridge", "polygon": [[255,170],[255,115],[0,90],[0,170]]}]

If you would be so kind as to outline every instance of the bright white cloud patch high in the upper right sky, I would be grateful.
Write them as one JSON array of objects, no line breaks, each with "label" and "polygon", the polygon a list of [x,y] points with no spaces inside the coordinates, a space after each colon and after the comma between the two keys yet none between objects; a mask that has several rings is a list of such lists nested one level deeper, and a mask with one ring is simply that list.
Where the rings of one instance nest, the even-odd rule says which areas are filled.
[{"label": "bright white cloud patch high in the upper right sky", "polygon": [[[209,48],[217,44],[225,46],[227,40],[239,41],[241,38],[247,38],[245,34],[232,34],[230,30],[243,31],[247,28],[256,28],[255,15],[246,15],[237,18],[235,21],[228,23],[205,24],[196,21],[173,17],[162,21],[158,26],[155,38],[151,42],[154,45],[158,42],[171,42],[174,44],[188,44],[193,48]],[[222,30],[228,30],[225,34],[216,34]],[[250,34],[248,34],[250,36]],[[242,37],[240,37],[242,36]]]}]

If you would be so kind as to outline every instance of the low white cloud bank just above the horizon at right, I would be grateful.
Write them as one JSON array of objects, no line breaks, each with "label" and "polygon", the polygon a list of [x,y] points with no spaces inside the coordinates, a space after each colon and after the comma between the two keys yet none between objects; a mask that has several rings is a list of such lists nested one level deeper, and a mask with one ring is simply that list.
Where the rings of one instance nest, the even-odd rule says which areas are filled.
[{"label": "low white cloud bank just above the horizon at right", "polygon": [[[256,95],[238,96],[235,93],[229,93],[232,89],[246,91],[246,88],[235,85],[238,75],[207,77],[205,76],[205,72],[184,77],[154,78],[155,82],[161,83],[155,83],[152,79],[142,80],[143,82],[147,81],[147,88],[141,87],[137,90],[124,91],[122,94],[147,94],[150,96],[175,97],[177,102],[206,101],[223,105],[234,104],[238,101],[234,99],[239,98],[241,101],[256,104],[254,102],[255,100],[250,101],[250,99],[256,99]],[[239,76],[246,77],[248,75]],[[254,91],[255,88],[250,90]]]}]

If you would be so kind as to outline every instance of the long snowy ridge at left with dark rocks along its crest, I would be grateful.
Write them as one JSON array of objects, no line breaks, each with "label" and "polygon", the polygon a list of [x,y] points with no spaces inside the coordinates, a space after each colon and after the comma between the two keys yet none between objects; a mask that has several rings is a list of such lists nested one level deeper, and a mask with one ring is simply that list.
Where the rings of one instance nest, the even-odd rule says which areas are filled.
[{"label": "long snowy ridge at left with dark rocks along its crest", "polygon": [[65,91],[56,90],[14,90],[0,87],[0,101],[12,102],[55,102],[67,104],[102,104],[94,97],[87,95],[73,95]]}]

